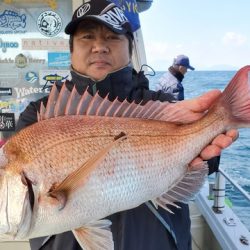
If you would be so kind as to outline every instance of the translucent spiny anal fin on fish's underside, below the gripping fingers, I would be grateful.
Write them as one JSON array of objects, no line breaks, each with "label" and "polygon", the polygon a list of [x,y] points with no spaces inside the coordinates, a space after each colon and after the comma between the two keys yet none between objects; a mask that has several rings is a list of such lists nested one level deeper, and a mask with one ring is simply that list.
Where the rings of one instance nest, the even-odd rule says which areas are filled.
[{"label": "translucent spiny anal fin on fish's underside, below the gripping fingers", "polygon": [[[166,193],[156,198],[155,202],[168,212],[172,212],[168,205],[180,208],[175,202],[188,203],[199,192],[208,174],[207,162],[202,162],[194,170],[187,167],[186,174],[175,183]],[[170,211],[169,211],[170,210]]]}]

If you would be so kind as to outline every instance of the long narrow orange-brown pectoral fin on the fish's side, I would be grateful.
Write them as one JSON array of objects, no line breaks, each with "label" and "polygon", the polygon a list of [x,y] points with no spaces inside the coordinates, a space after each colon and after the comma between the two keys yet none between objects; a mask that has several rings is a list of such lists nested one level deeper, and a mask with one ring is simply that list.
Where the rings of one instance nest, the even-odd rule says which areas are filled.
[{"label": "long narrow orange-brown pectoral fin on the fish's side", "polygon": [[74,192],[79,186],[83,185],[89,173],[98,166],[110,150],[126,138],[127,135],[123,132],[117,135],[114,141],[110,142],[105,148],[87,160],[80,168],[68,175],[58,186],[50,189],[48,195],[59,201],[60,210],[64,208],[69,193]]}]

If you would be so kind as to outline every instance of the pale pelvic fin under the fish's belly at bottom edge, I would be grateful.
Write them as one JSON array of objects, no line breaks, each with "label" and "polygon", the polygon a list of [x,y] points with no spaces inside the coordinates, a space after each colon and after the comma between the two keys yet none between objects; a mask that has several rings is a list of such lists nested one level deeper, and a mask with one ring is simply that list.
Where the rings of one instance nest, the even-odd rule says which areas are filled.
[{"label": "pale pelvic fin under the fish's belly at bottom edge", "polygon": [[114,242],[110,231],[111,221],[99,220],[73,230],[79,245],[86,250],[113,250]]}]

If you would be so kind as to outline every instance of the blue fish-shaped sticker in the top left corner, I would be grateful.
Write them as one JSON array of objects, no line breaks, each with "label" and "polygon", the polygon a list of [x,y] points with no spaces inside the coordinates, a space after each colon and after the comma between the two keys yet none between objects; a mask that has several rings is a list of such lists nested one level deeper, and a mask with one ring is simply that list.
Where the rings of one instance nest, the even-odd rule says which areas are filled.
[{"label": "blue fish-shaped sticker in the top left corner", "polygon": [[0,27],[9,28],[12,30],[16,30],[17,28],[25,28],[26,15],[20,15],[13,10],[5,10],[0,15]]}]

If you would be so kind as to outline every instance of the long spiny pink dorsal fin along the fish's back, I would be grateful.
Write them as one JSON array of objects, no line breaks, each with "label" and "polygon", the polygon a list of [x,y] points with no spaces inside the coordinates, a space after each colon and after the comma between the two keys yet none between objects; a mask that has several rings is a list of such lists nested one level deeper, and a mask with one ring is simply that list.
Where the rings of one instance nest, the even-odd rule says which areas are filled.
[{"label": "long spiny pink dorsal fin along the fish's back", "polygon": [[148,101],[142,105],[126,99],[120,102],[118,98],[110,101],[108,95],[102,98],[97,92],[92,96],[88,89],[80,95],[75,87],[72,91],[68,90],[65,83],[59,92],[53,85],[46,108],[42,105],[39,120],[65,115],[89,115],[178,121],[183,115],[172,103]]}]

